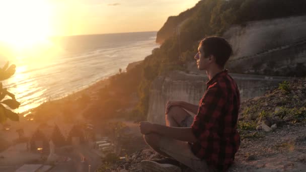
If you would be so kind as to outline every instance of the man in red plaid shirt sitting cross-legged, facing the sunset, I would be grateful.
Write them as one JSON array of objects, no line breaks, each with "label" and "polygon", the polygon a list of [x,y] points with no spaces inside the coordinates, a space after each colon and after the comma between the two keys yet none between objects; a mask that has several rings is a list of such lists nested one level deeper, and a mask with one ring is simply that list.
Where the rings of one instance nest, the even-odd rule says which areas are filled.
[{"label": "man in red plaid shirt sitting cross-legged, facing the sunset", "polygon": [[[139,123],[140,132],[151,148],[196,171],[225,171],[230,167],[240,145],[237,131],[240,94],[236,82],[224,69],[232,52],[231,45],[221,37],[207,37],[200,42],[195,59],[198,69],[206,70],[208,75],[206,91],[199,105],[168,102],[166,126]],[[150,171],[179,168],[152,160],[143,160],[141,165]]]}]

